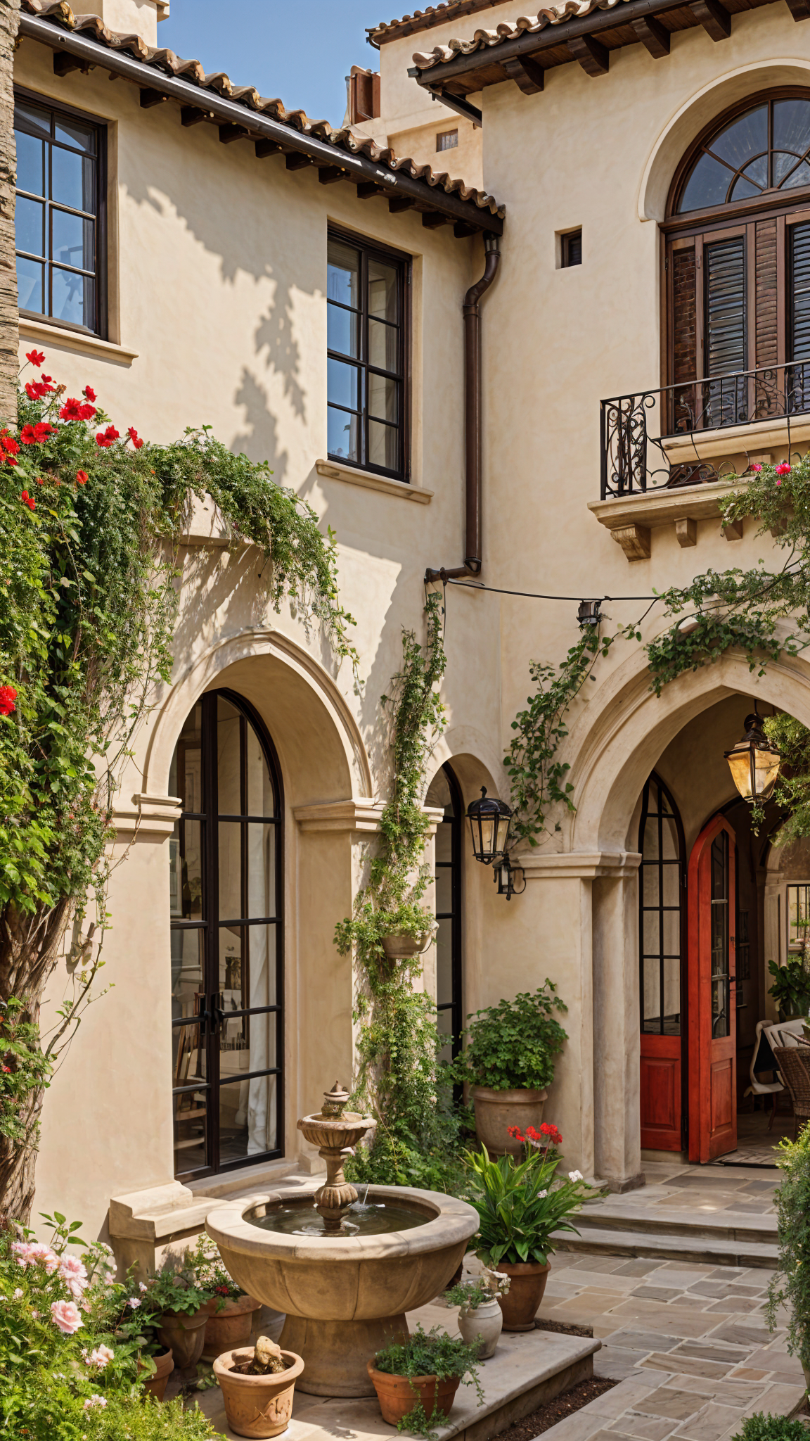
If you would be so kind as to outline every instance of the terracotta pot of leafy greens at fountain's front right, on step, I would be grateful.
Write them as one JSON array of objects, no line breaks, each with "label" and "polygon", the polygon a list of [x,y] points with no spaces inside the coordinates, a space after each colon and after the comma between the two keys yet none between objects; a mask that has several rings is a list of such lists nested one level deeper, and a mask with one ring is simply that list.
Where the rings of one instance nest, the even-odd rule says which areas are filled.
[{"label": "terracotta pot of leafy greens at fountain's front right, on step", "polygon": [[461,1380],[474,1385],[483,1402],[477,1363],[477,1344],[454,1340],[437,1326],[430,1331],[417,1326],[406,1342],[393,1342],[368,1363],[382,1419],[430,1435],[447,1421]]}]

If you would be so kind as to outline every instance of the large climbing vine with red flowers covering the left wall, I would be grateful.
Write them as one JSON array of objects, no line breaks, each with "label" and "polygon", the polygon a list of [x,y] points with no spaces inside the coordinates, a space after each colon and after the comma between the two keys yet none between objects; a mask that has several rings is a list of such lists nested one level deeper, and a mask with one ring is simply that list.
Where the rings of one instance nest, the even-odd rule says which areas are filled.
[{"label": "large climbing vine with red flowers covering the left wall", "polygon": [[[19,424],[0,431],[0,1001],[16,1003],[0,1038],[0,1197],[20,1221],[48,1075],[98,994],[123,767],[170,680],[179,582],[218,563],[183,549],[196,500],[215,501],[232,548],[257,548],[267,607],[288,599],[337,660],[357,660],[334,536],[267,465],[209,428],[170,445],[121,437],[89,386],[65,396],[39,378],[40,352],[27,360]],[[42,1043],[40,999],[69,925],[71,980]]]}]

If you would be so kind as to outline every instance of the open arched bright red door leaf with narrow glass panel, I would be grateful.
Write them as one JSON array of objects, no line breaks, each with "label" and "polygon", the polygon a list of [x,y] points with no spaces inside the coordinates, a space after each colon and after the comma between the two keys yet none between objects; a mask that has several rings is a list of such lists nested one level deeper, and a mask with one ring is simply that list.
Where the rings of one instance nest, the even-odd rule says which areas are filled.
[{"label": "open arched bright red door leaf with narrow glass panel", "polygon": [[689,857],[689,1160],[736,1150],[735,834],[715,816]]}]

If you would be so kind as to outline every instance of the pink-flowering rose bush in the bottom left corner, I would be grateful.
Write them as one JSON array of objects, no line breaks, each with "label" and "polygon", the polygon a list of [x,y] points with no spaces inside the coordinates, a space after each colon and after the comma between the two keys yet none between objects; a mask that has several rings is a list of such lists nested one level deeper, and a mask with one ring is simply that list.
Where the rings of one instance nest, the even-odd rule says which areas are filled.
[{"label": "pink-flowering rose bush in the bottom left corner", "polygon": [[[110,1248],[84,1246],[55,1213],[50,1245],[0,1233],[0,1435],[26,1441],[203,1441],[216,1432],[141,1385],[153,1370],[138,1290],[117,1282]],[[138,1372],[138,1362],[141,1370]]]}]

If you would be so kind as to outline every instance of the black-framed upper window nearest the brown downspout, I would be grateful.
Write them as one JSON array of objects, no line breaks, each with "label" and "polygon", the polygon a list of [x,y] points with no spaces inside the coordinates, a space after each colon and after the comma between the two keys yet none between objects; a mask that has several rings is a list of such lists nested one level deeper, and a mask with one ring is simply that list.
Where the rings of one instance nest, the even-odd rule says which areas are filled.
[{"label": "black-framed upper window nearest the brown downspout", "polygon": [[349,235],[327,242],[327,451],[408,478],[408,261]]}]

